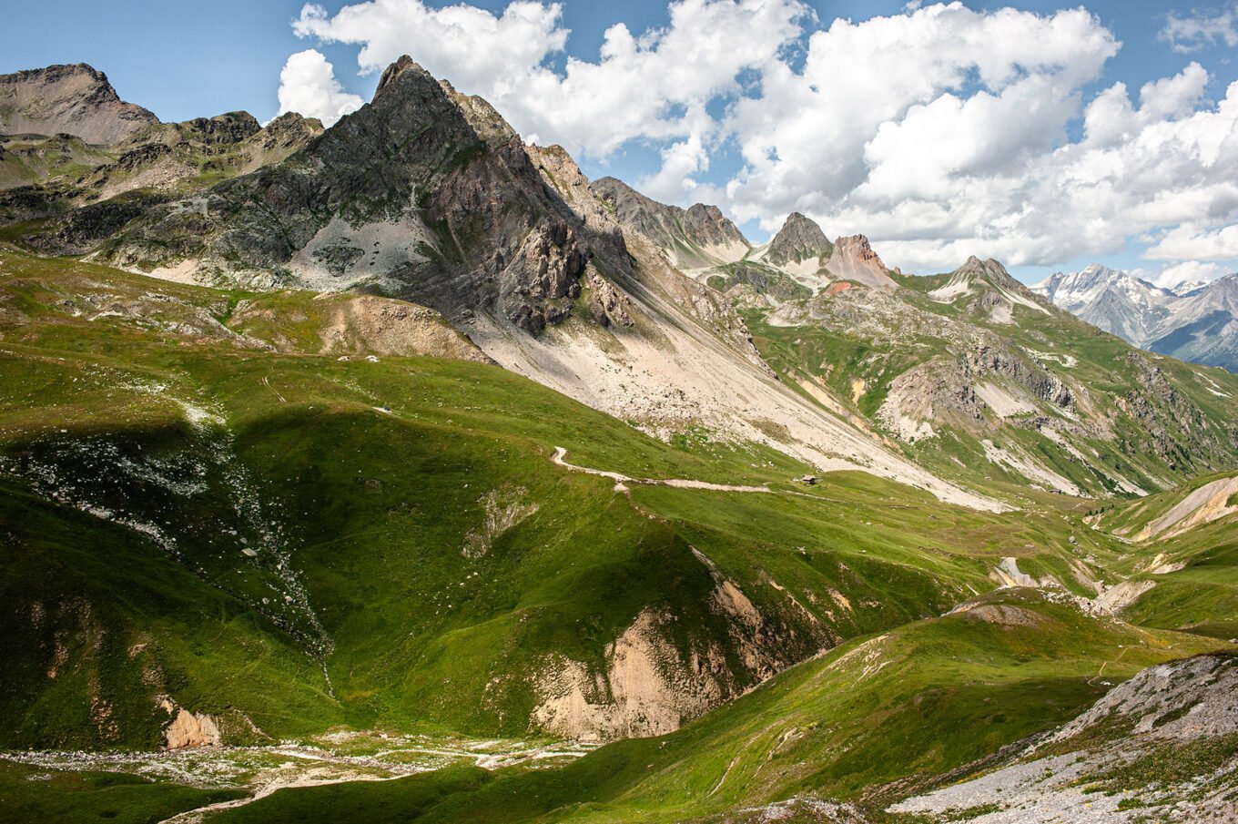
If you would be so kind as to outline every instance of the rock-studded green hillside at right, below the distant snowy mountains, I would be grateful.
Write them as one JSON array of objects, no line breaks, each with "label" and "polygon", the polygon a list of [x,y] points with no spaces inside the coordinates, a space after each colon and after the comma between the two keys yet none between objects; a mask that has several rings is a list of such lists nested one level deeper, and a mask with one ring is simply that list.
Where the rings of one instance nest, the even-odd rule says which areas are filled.
[{"label": "rock-studded green hillside at right, below the distant snowy mountains", "polygon": [[901,276],[894,294],[847,289],[745,318],[806,397],[828,390],[827,405],[974,486],[1129,498],[1238,461],[1234,375],[1139,352],[1058,310],[1008,306],[1011,291],[987,276],[950,302],[930,294],[951,275]]}]

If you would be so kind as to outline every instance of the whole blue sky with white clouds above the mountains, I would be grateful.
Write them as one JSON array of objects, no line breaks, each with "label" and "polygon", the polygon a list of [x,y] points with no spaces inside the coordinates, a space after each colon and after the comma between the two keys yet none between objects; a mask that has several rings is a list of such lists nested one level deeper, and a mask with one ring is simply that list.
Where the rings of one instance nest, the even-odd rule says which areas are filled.
[{"label": "whole blue sky with white clouds above the mountains", "polygon": [[[683,204],[719,202],[754,240],[768,237],[795,208],[817,218],[828,234],[869,234],[886,263],[920,271],[951,268],[964,250],[1010,260],[1025,280],[1093,260],[1149,278],[1167,271],[1167,281],[1238,268],[1238,188],[1231,193],[1223,186],[1238,166],[1226,151],[1212,157],[1208,150],[1203,160],[1190,156],[1198,146],[1223,142],[1232,123],[1197,118],[1200,124],[1184,125],[1197,113],[1217,113],[1228,85],[1238,81],[1233,62],[1238,52],[1231,40],[1238,25],[1233,2],[1205,0],[1198,7],[1182,9],[1150,0],[1098,0],[1086,4],[1091,22],[1080,24],[1063,15],[1076,7],[1066,4],[969,1],[966,9],[978,14],[946,15],[952,21],[943,27],[942,15],[916,10],[905,0],[770,4],[785,6],[786,20],[769,14],[759,20],[745,17],[738,10],[754,1],[690,0],[691,7],[680,10],[677,22],[665,0],[567,0],[557,11],[527,4],[531,11],[520,24],[524,27],[505,30],[504,25],[513,24],[510,15],[504,16],[511,11],[508,2],[473,0],[469,5],[479,11],[443,30],[451,35],[438,37],[427,32],[436,31],[432,24],[452,22],[439,14],[447,4],[420,0],[380,0],[389,12],[402,6],[416,12],[402,19],[405,28],[365,6],[352,9],[355,17],[345,21],[340,11],[350,4],[324,2],[318,17],[302,24],[303,36],[293,26],[298,19],[305,21],[300,1],[11,4],[0,28],[0,72],[88,62],[108,73],[123,98],[165,120],[233,109],[266,120],[281,109],[281,71],[290,56],[306,50],[321,55],[324,59],[310,68],[333,71],[338,89],[328,92],[329,104],[347,110],[355,107],[350,95],[368,99],[373,93],[375,61],[402,51],[463,90],[491,99],[526,136],[567,145],[587,175],[615,175],[660,199]],[[1030,14],[999,17],[1000,10],[1010,7]],[[490,31],[487,17],[498,21],[496,31]],[[849,19],[853,25],[831,30],[836,19]],[[1011,73],[997,82],[985,79],[976,64],[980,58],[963,50],[953,58],[956,64],[933,63],[946,79],[932,88],[904,88],[900,71],[924,71],[916,61],[936,58],[912,46],[904,48],[899,40],[893,47],[865,52],[872,43],[884,42],[883,26],[888,30],[895,19],[910,32],[901,36],[936,32],[925,35],[922,50],[940,51],[942,42],[951,42],[932,37],[977,37],[974,42],[983,47],[973,52],[1006,50]],[[1006,22],[998,25],[998,20]],[[713,30],[699,31],[701,21]],[[1061,35],[1058,22],[1070,24],[1067,35]],[[568,78],[568,59],[605,63],[599,50],[607,30],[617,24],[636,38],[654,28],[664,33],[661,40],[655,36],[640,43],[639,55],[612,61],[588,77],[578,72],[579,82]],[[1177,40],[1167,37],[1167,27],[1177,32]],[[513,32],[520,32],[519,37]],[[829,56],[839,53],[843,35],[847,48],[869,58],[843,67],[839,74],[837,67],[831,69]],[[487,41],[487,36],[496,40]],[[442,42],[452,37],[462,42]],[[542,50],[531,47],[530,52],[525,43],[536,46],[539,37],[545,37]],[[1065,46],[1049,40],[1045,45],[1045,51],[1065,50],[1060,64],[1028,67],[1020,43],[1036,37],[1066,38]],[[1092,40],[1076,50],[1072,37],[1080,43]],[[521,47],[505,51],[514,40]],[[711,40],[733,42],[729,51],[750,47],[755,53],[734,61],[727,55],[704,55],[695,73],[695,66],[685,68],[683,61],[669,53],[693,52]],[[361,47],[373,52],[374,64],[360,66],[366,71],[359,72],[359,53],[365,59]],[[816,50],[815,57],[810,48]],[[470,50],[495,57],[487,62]],[[777,61],[765,59],[775,53]],[[906,68],[899,67],[900,61]],[[890,102],[889,110],[867,125],[839,126],[848,119],[863,120],[867,113],[854,108],[855,100],[831,97],[832,90],[820,84],[810,94],[807,62],[820,63],[818,76],[832,84],[851,83],[855,76],[848,71],[869,81],[884,73],[884,79],[873,82],[872,94],[874,100]],[[661,77],[681,71],[675,82],[696,92],[662,88]],[[952,71],[963,79],[946,77]],[[721,74],[711,77],[709,72]],[[784,83],[781,98],[771,90],[780,72],[789,72],[791,81]],[[322,93],[318,74],[310,79],[286,74],[286,98],[302,102],[301,108],[316,105]],[[1175,77],[1176,83],[1164,87],[1161,97],[1172,98],[1160,105],[1164,112],[1140,110],[1141,87]],[[805,88],[796,90],[796,81]],[[1020,85],[1020,81],[1029,82]],[[1088,136],[1086,118],[1098,98],[1108,94],[1102,102],[1118,100],[1107,90],[1119,82],[1127,87],[1127,108],[1136,114],[1114,108],[1109,119],[1125,123],[1125,131],[1101,145],[1094,134]],[[310,85],[293,88],[298,83]],[[643,93],[646,85],[647,95]],[[617,95],[607,110],[599,98],[614,87],[624,87],[626,94]],[[561,99],[550,103],[551,98]],[[650,98],[654,102],[643,108]],[[803,103],[792,105],[795,100]],[[1020,105],[1044,115],[1020,121]],[[1089,123],[1096,134],[1103,130],[1102,115],[1109,116],[1108,110],[1093,107]],[[617,116],[619,112],[625,120]],[[952,129],[974,145],[959,154]],[[818,131],[821,139],[815,140]],[[1140,140],[1159,145],[1158,135],[1164,134],[1175,135],[1185,147],[1166,157],[1132,149]],[[1238,142],[1238,136],[1229,142]],[[909,166],[907,157],[920,151],[922,162]],[[1097,185],[1099,169],[1117,175],[1115,182]],[[1155,186],[1134,183],[1160,169],[1170,171]],[[1086,188],[1080,188],[1080,181]],[[1155,208],[1149,206],[1153,202]]]}]

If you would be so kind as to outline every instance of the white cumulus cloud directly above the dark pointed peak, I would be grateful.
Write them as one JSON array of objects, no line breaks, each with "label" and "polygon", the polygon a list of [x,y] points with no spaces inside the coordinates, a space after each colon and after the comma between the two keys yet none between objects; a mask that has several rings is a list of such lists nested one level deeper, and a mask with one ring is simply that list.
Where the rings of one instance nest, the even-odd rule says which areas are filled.
[{"label": "white cumulus cloud directly above the dark pointed peak", "polygon": [[302,9],[293,30],[323,42],[361,46],[363,72],[410,55],[431,74],[494,104],[521,134],[568,151],[605,157],[629,140],[680,141],[680,164],[711,145],[717,121],[707,104],[739,90],[739,76],[777,59],[811,15],[799,0],[682,0],[670,22],[641,35],[610,26],[598,58],[547,59],[568,30],[558,4],[517,0],[503,14],[468,5],[433,9],[421,0],[370,0],[329,15]]}]

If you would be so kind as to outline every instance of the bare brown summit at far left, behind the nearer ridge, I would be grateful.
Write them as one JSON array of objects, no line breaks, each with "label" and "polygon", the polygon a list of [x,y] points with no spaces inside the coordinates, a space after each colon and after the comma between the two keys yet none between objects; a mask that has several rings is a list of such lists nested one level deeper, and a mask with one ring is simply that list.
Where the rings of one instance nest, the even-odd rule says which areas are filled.
[{"label": "bare brown summit at far left, behind the nearer ridge", "polygon": [[85,63],[0,74],[0,133],[68,134],[114,144],[158,123],[125,103],[106,74]]}]

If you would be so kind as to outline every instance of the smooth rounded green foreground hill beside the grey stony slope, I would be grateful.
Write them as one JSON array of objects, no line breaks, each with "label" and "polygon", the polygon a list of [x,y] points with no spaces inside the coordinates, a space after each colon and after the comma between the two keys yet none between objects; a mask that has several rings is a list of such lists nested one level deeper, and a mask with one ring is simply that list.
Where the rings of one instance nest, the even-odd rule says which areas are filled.
[{"label": "smooth rounded green foreground hill beside the grey stony slope", "polygon": [[879,809],[888,793],[1072,717],[1107,689],[1102,664],[1119,680],[1216,647],[1087,618],[1028,590],[977,606],[846,644],[676,734],[562,769],[499,773],[428,804],[438,777],[282,791],[217,820],[316,809],[373,822],[680,822],[795,794]]}]

